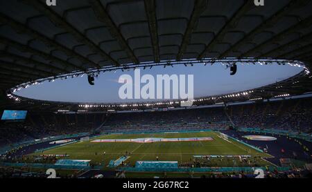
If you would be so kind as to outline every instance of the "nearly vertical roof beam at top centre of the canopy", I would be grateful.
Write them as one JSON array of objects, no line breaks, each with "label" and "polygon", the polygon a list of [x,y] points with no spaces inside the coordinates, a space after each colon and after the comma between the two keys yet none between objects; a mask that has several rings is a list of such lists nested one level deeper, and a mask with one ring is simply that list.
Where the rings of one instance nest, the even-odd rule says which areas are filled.
[{"label": "nearly vertical roof beam at top centre of the canopy", "polygon": [[156,3],[155,0],[144,0],[146,15],[148,17],[148,28],[150,30],[150,39],[152,41],[154,61],[159,63],[159,41],[156,19]]}]

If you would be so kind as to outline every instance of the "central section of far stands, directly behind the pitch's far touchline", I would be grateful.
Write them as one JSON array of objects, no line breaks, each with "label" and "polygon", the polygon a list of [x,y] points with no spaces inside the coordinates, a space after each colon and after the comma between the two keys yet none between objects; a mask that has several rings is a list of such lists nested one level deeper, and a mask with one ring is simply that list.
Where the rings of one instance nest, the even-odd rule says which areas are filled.
[{"label": "central section of far stands, directly behind the pitch's far touchline", "polygon": [[227,128],[230,125],[224,108],[201,108],[149,113],[114,113],[105,122],[102,131],[153,131]]}]

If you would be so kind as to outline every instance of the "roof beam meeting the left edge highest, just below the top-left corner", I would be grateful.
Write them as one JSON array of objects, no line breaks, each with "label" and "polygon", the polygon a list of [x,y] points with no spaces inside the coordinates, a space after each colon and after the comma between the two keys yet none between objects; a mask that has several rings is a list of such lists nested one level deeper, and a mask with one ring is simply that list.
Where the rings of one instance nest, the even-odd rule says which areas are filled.
[{"label": "roof beam meeting the left edge highest, just below the top-left corner", "polygon": [[19,33],[26,33],[30,37],[33,37],[34,39],[42,41],[44,44],[46,44],[46,46],[53,47],[57,50],[64,52],[69,57],[75,57],[79,59],[83,64],[91,64],[94,67],[98,66],[93,61],[88,60],[87,58],[79,55],[73,50],[70,50],[69,48],[62,46],[61,44],[58,44],[56,41],[53,41],[49,39],[48,37],[41,35],[39,32],[35,30],[31,30],[30,28],[27,28],[26,26],[24,26],[24,24],[18,23],[17,21],[14,21],[6,17],[5,15],[2,15],[1,13],[0,13],[0,22],[8,24],[11,28],[15,29]]}]

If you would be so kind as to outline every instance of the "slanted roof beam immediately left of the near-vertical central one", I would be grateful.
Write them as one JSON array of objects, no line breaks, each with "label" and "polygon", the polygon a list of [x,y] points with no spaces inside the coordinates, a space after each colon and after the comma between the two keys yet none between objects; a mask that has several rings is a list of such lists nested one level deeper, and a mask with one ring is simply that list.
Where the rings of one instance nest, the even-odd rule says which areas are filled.
[{"label": "slanted roof beam immediately left of the near-vertical central one", "polygon": [[105,8],[103,8],[101,1],[99,0],[89,0],[90,5],[92,6],[96,17],[103,23],[105,23],[105,26],[110,31],[110,34],[112,37],[114,37],[118,42],[119,45],[125,52],[127,52],[128,57],[131,59],[131,61],[135,64],[139,63],[139,60],[137,57],[135,57],[135,54],[132,52],[130,46],[127,44],[125,39],[123,38],[123,35],[121,35],[121,32],[116,27],[114,21],[110,18],[110,15],[106,12]]}]

